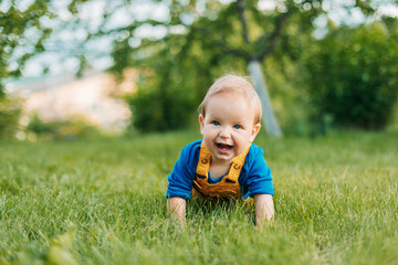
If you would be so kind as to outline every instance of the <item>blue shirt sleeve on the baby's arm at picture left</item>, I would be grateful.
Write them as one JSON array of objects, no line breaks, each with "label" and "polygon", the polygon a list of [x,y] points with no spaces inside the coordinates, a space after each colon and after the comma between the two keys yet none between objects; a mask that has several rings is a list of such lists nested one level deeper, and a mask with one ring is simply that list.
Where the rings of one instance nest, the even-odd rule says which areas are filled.
[{"label": "blue shirt sleeve on the baby's arm at picture left", "polygon": [[169,184],[167,186],[166,198],[180,197],[190,200],[196,170],[195,149],[192,145],[182,148],[172,172],[167,178]]}]

